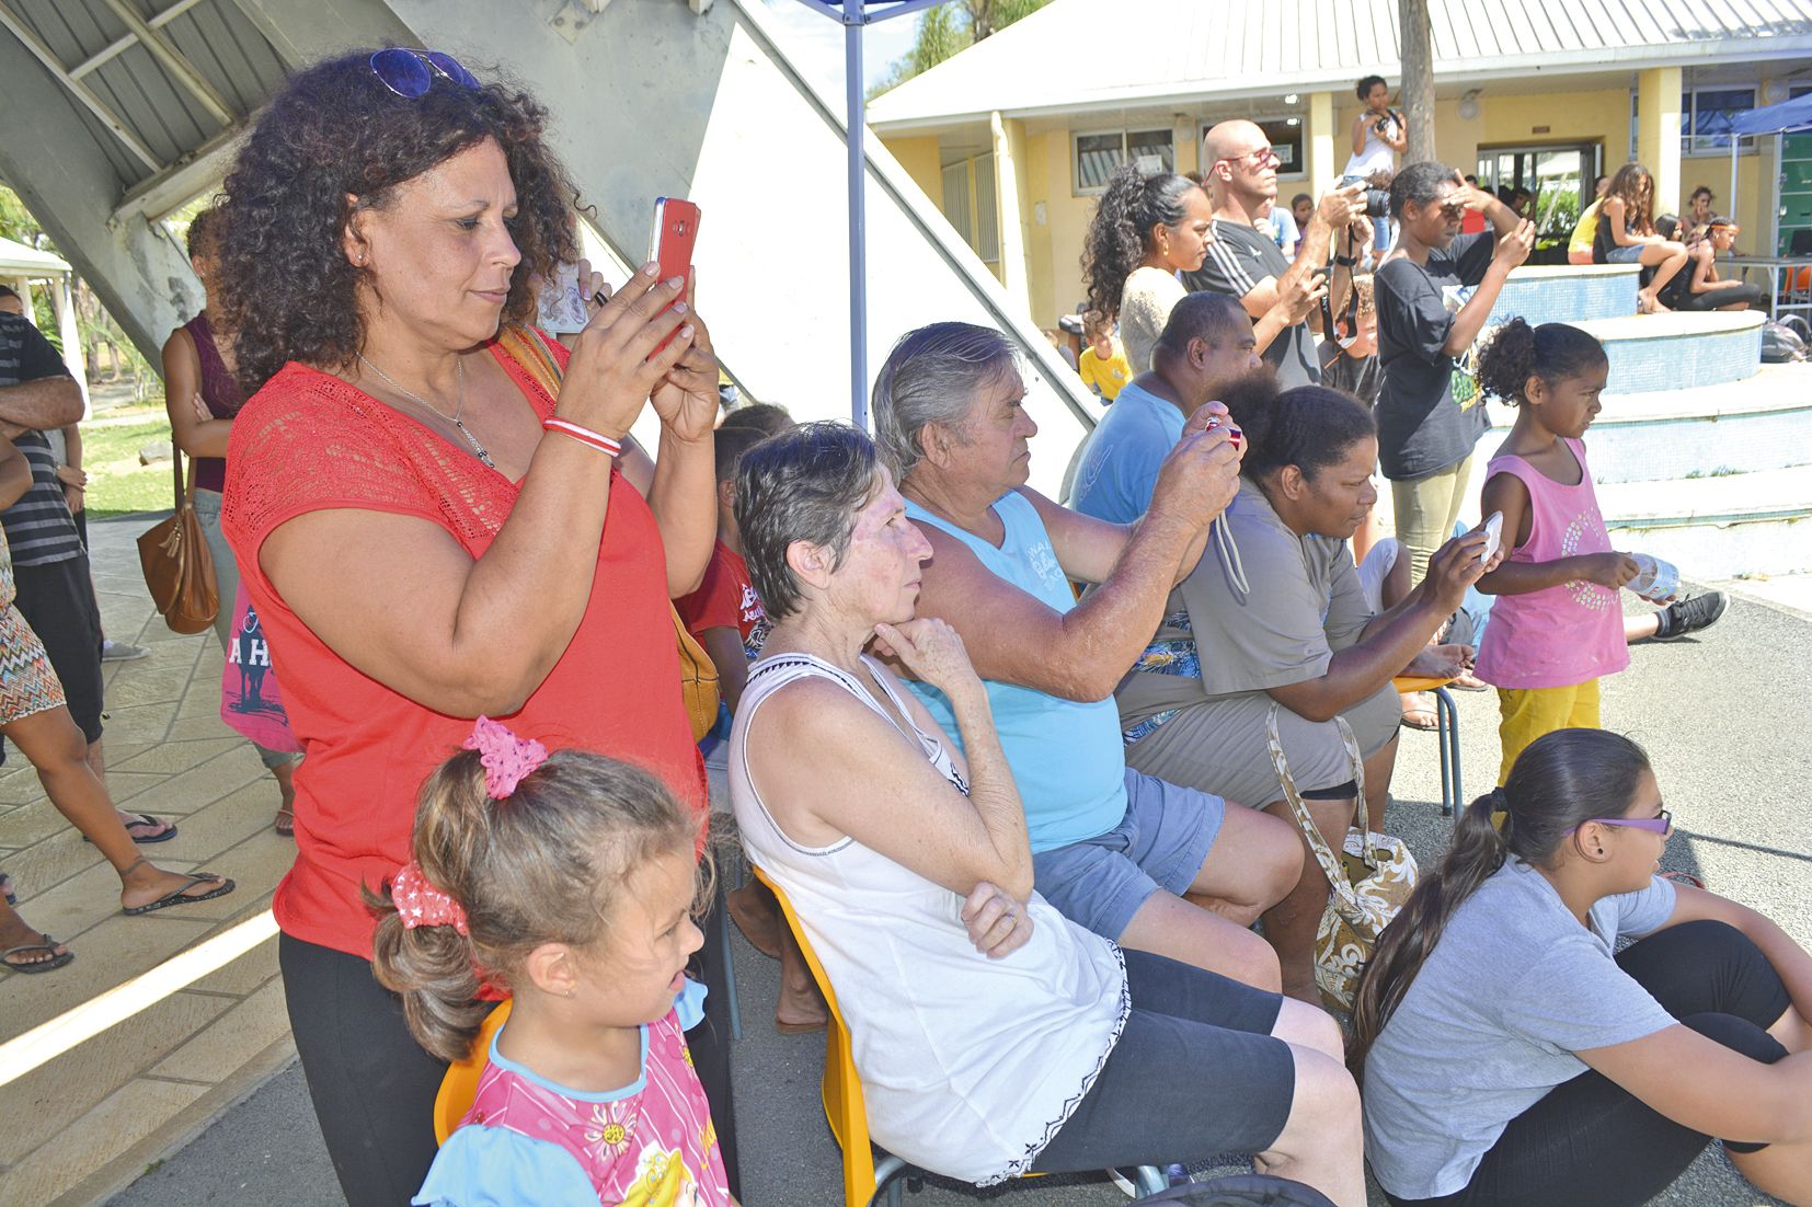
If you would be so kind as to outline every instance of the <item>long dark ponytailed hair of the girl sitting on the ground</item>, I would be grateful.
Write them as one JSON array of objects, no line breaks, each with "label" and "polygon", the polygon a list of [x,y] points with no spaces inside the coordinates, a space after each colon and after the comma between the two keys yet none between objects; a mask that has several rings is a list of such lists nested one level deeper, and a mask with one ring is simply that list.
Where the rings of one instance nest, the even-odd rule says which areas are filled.
[{"label": "long dark ponytailed hair of the girl sitting on the ground", "polygon": [[[1504,866],[1506,857],[1553,866],[1560,845],[1578,825],[1624,816],[1645,770],[1649,756],[1622,734],[1560,729],[1529,743],[1504,787],[1466,808],[1453,828],[1448,857],[1422,877],[1410,903],[1384,928],[1359,980],[1346,1044],[1354,1077],[1364,1075],[1366,1053],[1460,904]],[[1504,814],[1502,830],[1491,821],[1499,812]]]}]

